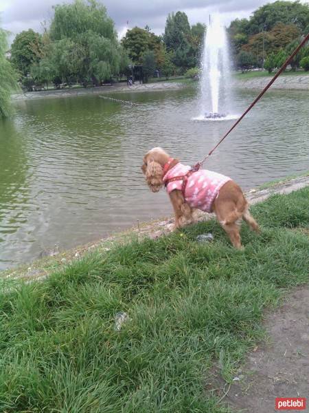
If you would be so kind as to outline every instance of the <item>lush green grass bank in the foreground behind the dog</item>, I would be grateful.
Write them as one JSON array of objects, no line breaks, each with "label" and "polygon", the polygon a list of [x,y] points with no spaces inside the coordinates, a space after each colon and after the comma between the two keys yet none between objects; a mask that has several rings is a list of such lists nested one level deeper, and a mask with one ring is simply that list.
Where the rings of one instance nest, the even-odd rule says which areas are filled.
[{"label": "lush green grass bank in the foreground behind the dog", "polygon": [[[309,189],[252,208],[244,251],[214,221],[93,252],[0,297],[1,412],[227,412],[205,392],[231,381],[266,307],[308,282]],[[214,242],[197,244],[211,231]],[[114,330],[115,313],[130,321]]]}]

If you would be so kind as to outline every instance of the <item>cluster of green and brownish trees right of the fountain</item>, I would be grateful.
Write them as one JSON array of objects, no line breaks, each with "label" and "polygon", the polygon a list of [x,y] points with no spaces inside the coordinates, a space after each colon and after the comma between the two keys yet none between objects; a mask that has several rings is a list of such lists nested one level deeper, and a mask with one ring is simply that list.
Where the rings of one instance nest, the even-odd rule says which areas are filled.
[{"label": "cluster of green and brownish trees right of the fountain", "polygon": [[[275,1],[253,12],[249,19],[236,19],[228,28],[233,61],[242,70],[264,67],[272,72],[295,50],[309,32],[309,4]],[[309,47],[291,63],[292,70],[309,70]]]}]

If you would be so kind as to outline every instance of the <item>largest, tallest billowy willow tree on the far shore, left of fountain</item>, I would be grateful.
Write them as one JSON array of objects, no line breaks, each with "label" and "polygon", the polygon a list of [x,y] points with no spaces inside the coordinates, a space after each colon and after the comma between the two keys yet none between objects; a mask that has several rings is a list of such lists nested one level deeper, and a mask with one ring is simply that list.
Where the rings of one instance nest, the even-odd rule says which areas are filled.
[{"label": "largest, tallest billowy willow tree on the far shore, left of fountain", "polygon": [[99,84],[119,74],[128,59],[102,4],[95,0],[75,0],[55,6],[54,10],[50,27],[52,47],[46,59],[55,77],[65,81],[78,78],[87,85]]}]

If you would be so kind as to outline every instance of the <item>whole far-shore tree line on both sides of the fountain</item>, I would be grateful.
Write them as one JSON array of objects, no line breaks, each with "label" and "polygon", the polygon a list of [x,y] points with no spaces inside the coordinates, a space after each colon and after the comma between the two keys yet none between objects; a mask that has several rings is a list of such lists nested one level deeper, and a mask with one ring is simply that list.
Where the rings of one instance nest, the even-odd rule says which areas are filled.
[{"label": "whole far-shore tree line on both sides of the fountain", "polygon": [[[146,25],[126,32],[121,41],[106,8],[96,0],[75,0],[54,6],[54,17],[43,34],[33,30],[16,36],[11,62],[23,85],[80,83],[100,85],[129,74],[129,65],[141,65],[146,78],[157,70],[163,76],[198,74],[203,23],[190,25],[185,12],[168,15],[157,36]],[[309,30],[309,6],[299,1],[275,1],[236,19],[227,29],[235,67],[247,70],[279,67]],[[308,47],[295,57],[293,70],[308,70]]]}]

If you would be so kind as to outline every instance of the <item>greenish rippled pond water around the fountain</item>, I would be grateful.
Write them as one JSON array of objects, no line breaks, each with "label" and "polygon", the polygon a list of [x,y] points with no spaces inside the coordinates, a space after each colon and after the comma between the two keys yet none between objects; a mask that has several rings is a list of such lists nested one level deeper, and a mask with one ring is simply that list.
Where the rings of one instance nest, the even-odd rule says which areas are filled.
[{"label": "greenish rippled pond water around the fountain", "polygon": [[[256,92],[236,92],[240,114]],[[0,120],[0,269],[42,251],[70,248],[172,214],[164,191],[150,193],[142,156],[161,146],[193,164],[231,121],[203,122],[190,87],[166,92],[16,102]],[[271,91],[207,160],[243,189],[309,169],[309,93]]]}]

